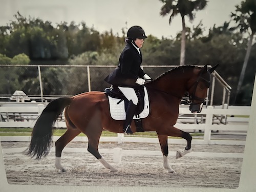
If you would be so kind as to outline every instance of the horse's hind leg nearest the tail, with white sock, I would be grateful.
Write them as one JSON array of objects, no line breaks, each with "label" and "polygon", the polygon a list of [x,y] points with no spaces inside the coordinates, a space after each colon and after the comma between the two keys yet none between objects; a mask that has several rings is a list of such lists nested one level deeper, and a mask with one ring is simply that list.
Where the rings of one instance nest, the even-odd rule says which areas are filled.
[{"label": "horse's hind leg nearest the tail, with white sock", "polygon": [[[68,125],[67,125],[68,126]],[[65,172],[65,168],[62,167],[60,160],[61,160],[61,153],[63,148],[72,140],[74,139],[79,133],[81,133],[80,130],[78,130],[75,127],[69,127],[68,130],[63,134],[56,142],[55,142],[55,167],[57,169],[60,169],[62,172]]]}]

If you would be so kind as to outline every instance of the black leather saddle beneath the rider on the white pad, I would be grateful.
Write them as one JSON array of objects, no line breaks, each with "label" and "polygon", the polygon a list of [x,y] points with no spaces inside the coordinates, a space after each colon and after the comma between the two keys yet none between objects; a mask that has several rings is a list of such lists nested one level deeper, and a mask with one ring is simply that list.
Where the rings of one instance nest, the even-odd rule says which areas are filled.
[{"label": "black leather saddle beneath the rider on the white pad", "polygon": [[[144,109],[144,96],[145,96],[145,92],[144,92],[144,87],[136,87],[134,88],[135,93],[139,99],[139,102],[137,104],[137,108],[135,111],[134,115],[139,115],[143,109]],[[126,97],[123,95],[123,93],[118,89],[117,86],[111,86],[110,88],[106,88],[104,90],[104,92],[109,95],[110,97],[116,98],[116,99],[120,99],[120,101],[117,103],[119,104],[120,102],[124,101],[124,110],[126,112],[127,110],[127,106],[129,104],[129,100],[126,99]]]}]

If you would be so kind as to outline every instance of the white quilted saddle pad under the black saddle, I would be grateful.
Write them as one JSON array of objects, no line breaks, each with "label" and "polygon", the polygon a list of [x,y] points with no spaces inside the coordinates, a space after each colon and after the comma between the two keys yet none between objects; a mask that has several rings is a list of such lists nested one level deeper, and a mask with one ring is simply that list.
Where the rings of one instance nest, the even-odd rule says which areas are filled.
[{"label": "white quilted saddle pad under the black saddle", "polygon": [[[148,114],[150,114],[150,102],[148,99],[148,93],[146,88],[144,87],[144,109],[139,115],[133,116],[133,119],[141,119],[146,118]],[[125,111],[124,111],[124,101],[121,101],[118,103],[121,99],[116,99],[113,97],[109,97],[109,103],[110,103],[110,115],[115,120],[125,120]],[[118,103],[118,104],[117,104]]]}]

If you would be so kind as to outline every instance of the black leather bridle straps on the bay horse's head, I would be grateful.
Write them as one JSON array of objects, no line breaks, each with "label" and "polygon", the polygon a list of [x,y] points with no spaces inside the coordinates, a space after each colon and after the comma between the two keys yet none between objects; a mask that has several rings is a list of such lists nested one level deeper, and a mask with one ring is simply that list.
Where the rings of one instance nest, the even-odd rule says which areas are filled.
[{"label": "black leather bridle straps on the bay horse's head", "polygon": [[[208,74],[208,73],[209,73],[209,72],[207,72],[207,74]],[[193,94],[192,94],[192,95],[189,95],[188,92],[185,93],[185,96],[188,97],[188,98],[184,99],[184,100],[187,102],[187,104],[200,104],[200,103],[202,103],[202,102],[205,101],[205,98],[200,98],[200,97],[197,97],[197,96],[196,96],[196,90],[197,90],[197,86],[198,86],[198,83],[199,83],[200,80],[204,81],[205,86],[206,86],[207,88],[210,87],[210,80],[208,80],[208,79],[202,77],[202,74],[200,74],[200,75],[198,76],[197,80],[196,80],[196,81],[192,84],[192,86],[188,89],[188,90],[190,90],[191,88],[194,87]],[[198,101],[200,101],[200,102],[199,102],[199,103],[193,103],[192,100],[198,100]]]}]

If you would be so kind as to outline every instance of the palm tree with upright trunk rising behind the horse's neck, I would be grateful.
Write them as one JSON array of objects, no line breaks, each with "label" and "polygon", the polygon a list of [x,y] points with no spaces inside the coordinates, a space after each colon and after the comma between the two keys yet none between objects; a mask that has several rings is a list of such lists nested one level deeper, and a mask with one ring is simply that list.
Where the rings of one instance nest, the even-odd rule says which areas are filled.
[{"label": "palm tree with upright trunk rising behind the horse's neck", "polygon": [[164,5],[161,7],[160,15],[165,16],[170,14],[169,24],[172,22],[172,18],[180,13],[182,19],[182,33],[181,33],[181,51],[180,51],[180,66],[185,62],[185,43],[186,43],[186,27],[185,27],[185,15],[189,16],[189,20],[195,18],[194,10],[202,10],[205,8],[206,0],[159,0]]}]

